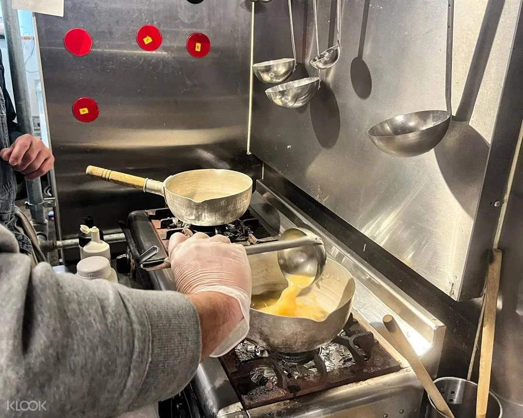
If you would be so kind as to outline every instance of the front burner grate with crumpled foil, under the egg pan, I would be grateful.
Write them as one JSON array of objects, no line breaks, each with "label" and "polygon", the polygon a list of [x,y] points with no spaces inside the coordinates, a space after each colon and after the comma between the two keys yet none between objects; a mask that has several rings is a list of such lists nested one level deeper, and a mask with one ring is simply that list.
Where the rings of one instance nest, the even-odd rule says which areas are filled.
[{"label": "front burner grate with crumpled foil, under the egg pan", "polygon": [[271,353],[248,341],[220,358],[244,408],[252,409],[400,370],[396,360],[351,315],[320,349]]}]

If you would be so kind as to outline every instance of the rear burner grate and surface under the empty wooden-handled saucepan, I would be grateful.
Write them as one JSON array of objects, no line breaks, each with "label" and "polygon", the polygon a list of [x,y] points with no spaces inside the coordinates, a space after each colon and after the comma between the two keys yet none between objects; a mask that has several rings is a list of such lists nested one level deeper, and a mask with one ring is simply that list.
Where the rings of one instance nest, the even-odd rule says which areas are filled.
[{"label": "rear burner grate and surface under the empty wooden-handled saucepan", "polygon": [[228,237],[231,242],[238,242],[243,245],[274,241],[276,239],[271,236],[267,229],[261,225],[260,220],[253,216],[249,210],[247,210],[240,219],[230,224],[218,226],[185,224],[174,217],[168,208],[154,209],[146,211],[146,213],[165,248],[168,246],[169,238],[177,232],[187,236],[191,236],[197,232],[203,232],[210,237],[220,234]]}]

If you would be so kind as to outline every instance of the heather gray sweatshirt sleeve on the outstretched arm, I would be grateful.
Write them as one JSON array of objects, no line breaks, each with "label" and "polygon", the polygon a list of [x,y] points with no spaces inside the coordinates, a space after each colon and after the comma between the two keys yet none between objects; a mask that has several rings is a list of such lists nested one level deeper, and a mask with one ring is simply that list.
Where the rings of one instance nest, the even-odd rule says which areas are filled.
[{"label": "heather gray sweatshirt sleeve on the outstretched arm", "polygon": [[13,411],[22,401],[45,402],[42,417],[118,415],[173,396],[198,367],[199,318],[184,296],[31,271],[2,225],[0,313],[0,416],[24,414]]}]

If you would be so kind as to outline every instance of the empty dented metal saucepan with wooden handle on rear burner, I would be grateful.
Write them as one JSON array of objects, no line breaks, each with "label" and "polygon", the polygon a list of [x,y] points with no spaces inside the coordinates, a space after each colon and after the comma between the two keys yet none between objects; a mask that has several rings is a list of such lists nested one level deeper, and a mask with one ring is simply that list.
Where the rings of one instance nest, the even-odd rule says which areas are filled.
[{"label": "empty dented metal saucepan with wooden handle on rear burner", "polygon": [[253,180],[232,170],[185,171],[163,182],[94,166],[88,166],[85,172],[111,183],[160,194],[173,215],[191,225],[230,223],[242,216],[251,203]]}]

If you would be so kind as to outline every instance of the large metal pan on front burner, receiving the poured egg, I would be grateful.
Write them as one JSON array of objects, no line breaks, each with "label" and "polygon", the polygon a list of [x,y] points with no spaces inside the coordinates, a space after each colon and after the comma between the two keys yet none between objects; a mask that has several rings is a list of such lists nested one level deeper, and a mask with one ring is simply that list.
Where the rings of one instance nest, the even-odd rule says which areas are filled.
[{"label": "large metal pan on front burner, receiving the poured egg", "polygon": [[[278,265],[275,252],[249,256],[253,276],[253,295],[282,291],[287,280]],[[320,279],[305,288],[300,299],[317,304],[329,312],[323,321],[291,318],[256,309],[250,311],[251,329],[247,339],[267,350],[300,353],[314,350],[332,341],[343,329],[353,307],[356,284],[350,273],[337,262],[327,259]]]}]

